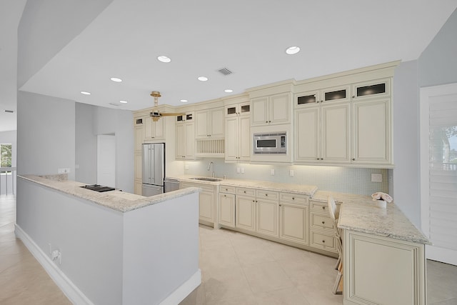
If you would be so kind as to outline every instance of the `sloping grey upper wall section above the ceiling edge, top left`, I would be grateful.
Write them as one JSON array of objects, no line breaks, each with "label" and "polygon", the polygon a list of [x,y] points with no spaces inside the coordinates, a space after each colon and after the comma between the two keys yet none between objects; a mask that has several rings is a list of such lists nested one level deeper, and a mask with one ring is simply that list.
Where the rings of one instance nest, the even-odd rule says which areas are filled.
[{"label": "sloping grey upper wall section above the ceiling edge, top left", "polygon": [[18,88],[80,34],[112,1],[27,1],[18,26]]}]

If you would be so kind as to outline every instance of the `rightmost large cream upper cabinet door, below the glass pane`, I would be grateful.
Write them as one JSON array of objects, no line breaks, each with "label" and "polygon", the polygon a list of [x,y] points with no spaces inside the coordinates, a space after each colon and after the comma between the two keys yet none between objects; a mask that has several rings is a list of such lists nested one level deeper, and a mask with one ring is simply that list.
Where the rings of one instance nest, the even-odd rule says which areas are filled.
[{"label": "rightmost large cream upper cabinet door, below the glass pane", "polygon": [[390,99],[353,102],[353,164],[392,164]]}]

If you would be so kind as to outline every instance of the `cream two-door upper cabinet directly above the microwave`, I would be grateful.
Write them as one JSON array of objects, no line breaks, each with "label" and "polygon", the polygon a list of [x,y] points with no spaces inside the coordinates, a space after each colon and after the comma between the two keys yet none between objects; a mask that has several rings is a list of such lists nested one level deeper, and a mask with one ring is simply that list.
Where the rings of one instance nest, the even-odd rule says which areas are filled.
[{"label": "cream two-door upper cabinet directly above the microwave", "polygon": [[251,126],[291,122],[291,94],[275,94],[251,99]]}]

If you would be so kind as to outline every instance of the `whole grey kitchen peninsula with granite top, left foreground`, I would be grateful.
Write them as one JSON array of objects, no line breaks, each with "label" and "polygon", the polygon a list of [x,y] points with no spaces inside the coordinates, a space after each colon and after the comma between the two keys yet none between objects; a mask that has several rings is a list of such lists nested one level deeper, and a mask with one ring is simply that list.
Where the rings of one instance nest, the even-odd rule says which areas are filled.
[{"label": "whole grey kitchen peninsula with granite top, left foreground", "polygon": [[81,186],[66,174],[17,179],[16,236],[74,304],[177,304],[199,286],[199,188]]}]

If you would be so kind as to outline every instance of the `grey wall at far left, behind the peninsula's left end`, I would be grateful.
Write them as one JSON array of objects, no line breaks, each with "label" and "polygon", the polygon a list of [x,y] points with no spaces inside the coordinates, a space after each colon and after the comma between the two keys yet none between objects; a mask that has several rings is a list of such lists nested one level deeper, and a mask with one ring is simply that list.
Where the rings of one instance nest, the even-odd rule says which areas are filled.
[{"label": "grey wall at far left, behind the peninsula's left end", "polygon": [[17,173],[69,168],[74,180],[74,101],[18,91],[17,109]]}]

